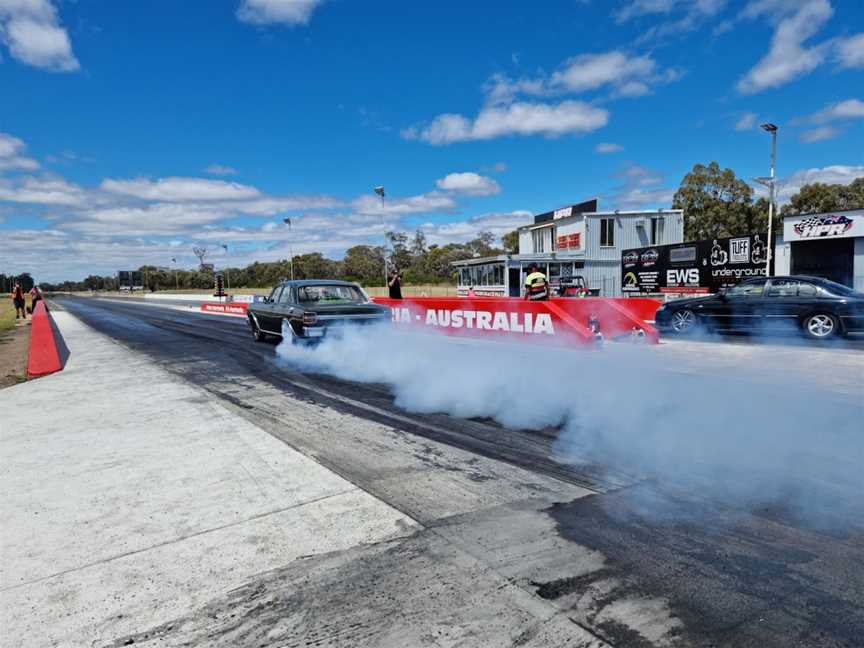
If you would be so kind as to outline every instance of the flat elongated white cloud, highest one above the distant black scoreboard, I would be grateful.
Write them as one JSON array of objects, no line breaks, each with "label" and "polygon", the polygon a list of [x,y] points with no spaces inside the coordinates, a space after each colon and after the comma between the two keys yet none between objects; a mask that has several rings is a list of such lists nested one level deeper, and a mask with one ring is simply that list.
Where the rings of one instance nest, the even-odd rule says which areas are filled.
[{"label": "flat elongated white cloud, highest one above the distant black scoreboard", "polygon": [[146,178],[134,180],[106,179],[102,181],[100,188],[108,193],[131,196],[142,200],[171,202],[247,200],[261,196],[261,192],[255,187],[203,178],[160,178],[156,181]]}]

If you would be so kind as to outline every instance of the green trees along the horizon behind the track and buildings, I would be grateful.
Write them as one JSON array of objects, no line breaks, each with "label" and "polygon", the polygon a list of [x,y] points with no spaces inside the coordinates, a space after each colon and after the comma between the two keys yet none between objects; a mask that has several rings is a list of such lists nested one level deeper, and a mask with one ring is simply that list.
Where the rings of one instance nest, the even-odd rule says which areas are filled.
[{"label": "green trees along the horizon behind the track and buildings", "polygon": [[[697,164],[684,176],[675,192],[672,207],[684,210],[684,240],[722,238],[763,232],[768,228],[768,200],[755,198],[753,188],[739,179],[731,169],[722,169],[717,162]],[[821,213],[843,209],[864,209],[864,178],[851,184],[811,183],[783,205],[774,220],[779,230],[785,216]],[[402,272],[403,281],[413,284],[455,283],[450,265],[478,256],[516,253],[519,235],[516,231],[501,237],[481,232],[467,243],[428,244],[421,230],[413,235],[403,232],[387,234],[387,254],[391,267]],[[345,279],[365,286],[384,284],[384,250],[381,246],[356,245],[342,259],[328,259],[313,252],[294,256],[295,279]],[[212,288],[212,271],[171,271],[157,266],[142,266],[146,290]],[[264,288],[291,276],[288,259],[255,262],[243,268],[224,268],[221,272],[230,288]],[[47,290],[113,290],[113,276],[91,275],[82,281],[43,283]]]}]

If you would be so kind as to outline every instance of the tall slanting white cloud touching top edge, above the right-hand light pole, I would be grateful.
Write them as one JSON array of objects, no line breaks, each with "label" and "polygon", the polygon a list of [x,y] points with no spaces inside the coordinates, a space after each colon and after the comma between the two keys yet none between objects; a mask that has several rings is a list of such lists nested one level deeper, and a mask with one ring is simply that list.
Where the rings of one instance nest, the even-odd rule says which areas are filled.
[{"label": "tall slanting white cloud touching top edge, above the right-hand light pole", "polygon": [[760,0],[748,5],[743,15],[752,18],[773,12],[783,17],[774,30],[768,53],[738,81],[741,93],[753,94],[784,85],[812,72],[825,60],[827,44],[804,47],[804,43],[833,15],[828,0],[783,4]]}]

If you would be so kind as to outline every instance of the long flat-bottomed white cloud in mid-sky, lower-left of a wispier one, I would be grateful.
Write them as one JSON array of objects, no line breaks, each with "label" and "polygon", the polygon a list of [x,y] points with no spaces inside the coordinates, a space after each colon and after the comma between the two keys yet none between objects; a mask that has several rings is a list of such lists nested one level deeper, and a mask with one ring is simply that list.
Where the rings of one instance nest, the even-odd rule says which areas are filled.
[{"label": "long flat-bottomed white cloud in mid-sky, lower-left of a wispier one", "polygon": [[515,102],[507,106],[487,106],[473,120],[462,115],[438,115],[419,132],[403,131],[403,136],[430,144],[488,140],[510,135],[557,137],[567,133],[588,133],[602,128],[608,121],[607,110],[582,101],[562,101],[558,104]]}]

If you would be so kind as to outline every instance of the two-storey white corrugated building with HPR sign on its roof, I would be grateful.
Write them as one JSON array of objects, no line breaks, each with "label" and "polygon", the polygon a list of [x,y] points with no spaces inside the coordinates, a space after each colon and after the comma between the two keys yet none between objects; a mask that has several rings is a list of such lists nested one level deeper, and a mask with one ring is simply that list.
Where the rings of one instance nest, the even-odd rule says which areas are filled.
[{"label": "two-storey white corrugated building with HPR sign on its roof", "polygon": [[459,294],[519,297],[527,270],[537,264],[553,289],[582,277],[592,293],[621,295],[621,251],[681,243],[680,209],[597,211],[597,201],[571,205],[534,217],[519,228],[519,254],[459,261]]}]

